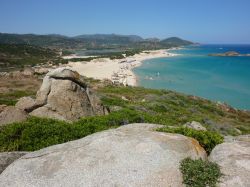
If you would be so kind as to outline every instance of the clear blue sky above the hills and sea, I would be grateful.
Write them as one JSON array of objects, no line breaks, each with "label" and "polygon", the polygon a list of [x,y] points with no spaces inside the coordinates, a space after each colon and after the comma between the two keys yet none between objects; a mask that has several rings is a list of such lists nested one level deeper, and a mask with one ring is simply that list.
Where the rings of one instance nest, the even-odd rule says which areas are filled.
[{"label": "clear blue sky above the hills and sea", "polygon": [[250,44],[250,0],[0,0],[0,32]]}]

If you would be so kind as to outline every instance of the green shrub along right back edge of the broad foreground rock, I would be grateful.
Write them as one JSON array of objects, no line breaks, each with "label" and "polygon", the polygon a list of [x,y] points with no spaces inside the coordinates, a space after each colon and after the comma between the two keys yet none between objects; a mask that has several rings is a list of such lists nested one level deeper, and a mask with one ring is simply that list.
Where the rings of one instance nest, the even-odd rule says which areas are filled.
[{"label": "green shrub along right back edge of the broad foreground rock", "polygon": [[158,131],[178,133],[178,134],[183,134],[184,136],[192,137],[198,140],[200,145],[206,150],[208,154],[210,154],[212,149],[217,144],[223,143],[223,137],[219,133],[212,131],[198,131],[185,127],[177,127],[177,128],[163,127],[158,129]]}]

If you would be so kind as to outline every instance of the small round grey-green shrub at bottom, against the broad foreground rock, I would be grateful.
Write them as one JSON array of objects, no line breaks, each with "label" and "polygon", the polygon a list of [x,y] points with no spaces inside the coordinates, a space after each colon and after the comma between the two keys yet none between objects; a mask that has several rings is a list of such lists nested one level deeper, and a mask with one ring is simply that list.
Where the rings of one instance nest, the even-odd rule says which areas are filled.
[{"label": "small round grey-green shrub at bottom, against the broad foreground rock", "polygon": [[213,162],[192,160],[186,158],[182,160],[180,170],[183,176],[183,183],[190,187],[215,187],[222,176],[220,167]]}]

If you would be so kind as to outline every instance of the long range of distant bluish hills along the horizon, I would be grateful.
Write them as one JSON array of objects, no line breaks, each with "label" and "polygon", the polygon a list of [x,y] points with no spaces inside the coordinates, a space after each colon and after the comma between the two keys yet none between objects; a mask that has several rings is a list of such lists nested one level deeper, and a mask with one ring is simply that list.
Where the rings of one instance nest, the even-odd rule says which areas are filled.
[{"label": "long range of distant bluish hills along the horizon", "polygon": [[0,33],[0,44],[28,44],[52,49],[103,49],[103,48],[137,48],[160,49],[190,45],[192,42],[177,37],[159,40],[143,39],[137,35],[94,34],[68,37],[57,34],[7,34]]}]

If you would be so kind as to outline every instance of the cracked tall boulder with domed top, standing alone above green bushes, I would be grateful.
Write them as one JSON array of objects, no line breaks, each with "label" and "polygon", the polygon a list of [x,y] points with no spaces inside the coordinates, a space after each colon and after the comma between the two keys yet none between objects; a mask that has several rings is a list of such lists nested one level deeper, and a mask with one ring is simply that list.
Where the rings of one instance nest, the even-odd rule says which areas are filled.
[{"label": "cracked tall boulder with domed top, standing alone above green bushes", "polygon": [[44,77],[37,92],[36,106],[30,115],[66,121],[107,113],[83,77],[65,67],[50,71]]}]

